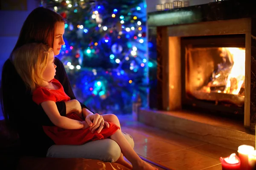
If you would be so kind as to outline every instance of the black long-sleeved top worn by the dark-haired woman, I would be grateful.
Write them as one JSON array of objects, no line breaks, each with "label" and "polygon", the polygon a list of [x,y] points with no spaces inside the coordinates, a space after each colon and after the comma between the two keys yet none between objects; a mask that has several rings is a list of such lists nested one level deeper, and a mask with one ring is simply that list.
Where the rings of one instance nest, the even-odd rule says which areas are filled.
[{"label": "black long-sleeved top worn by the dark-haired woman", "polygon": [[[57,79],[63,86],[65,93],[76,99],[70,86],[63,63],[55,58]],[[42,126],[54,126],[41,105],[32,101],[32,93],[26,90],[26,86],[17,71],[8,59],[2,70],[1,92],[3,111],[8,113],[8,119],[12,127],[17,130],[20,138],[20,147],[23,155],[45,157],[47,150],[54,142],[44,133]],[[64,101],[56,102],[58,111],[62,116],[66,115]],[[87,108],[81,104],[82,108]],[[88,109],[88,108],[87,108]]]}]

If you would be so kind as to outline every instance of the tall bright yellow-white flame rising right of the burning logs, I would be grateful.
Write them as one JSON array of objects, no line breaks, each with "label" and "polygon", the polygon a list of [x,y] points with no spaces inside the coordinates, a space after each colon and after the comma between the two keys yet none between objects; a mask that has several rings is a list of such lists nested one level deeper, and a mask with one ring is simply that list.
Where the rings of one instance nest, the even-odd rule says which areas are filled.
[{"label": "tall bright yellow-white flame rising right of the burning logs", "polygon": [[233,59],[233,66],[228,75],[224,93],[238,95],[245,79],[245,49],[222,48],[222,51],[227,51]]}]

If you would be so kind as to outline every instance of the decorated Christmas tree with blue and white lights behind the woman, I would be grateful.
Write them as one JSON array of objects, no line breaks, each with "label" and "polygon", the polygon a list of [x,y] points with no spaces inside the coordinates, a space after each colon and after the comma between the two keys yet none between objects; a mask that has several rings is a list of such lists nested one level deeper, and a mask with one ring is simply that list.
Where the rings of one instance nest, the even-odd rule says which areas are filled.
[{"label": "decorated Christmas tree with blue and white lights behind the woman", "polygon": [[94,112],[131,113],[147,105],[146,6],[143,0],[41,0],[65,24],[61,59],[76,98]]}]

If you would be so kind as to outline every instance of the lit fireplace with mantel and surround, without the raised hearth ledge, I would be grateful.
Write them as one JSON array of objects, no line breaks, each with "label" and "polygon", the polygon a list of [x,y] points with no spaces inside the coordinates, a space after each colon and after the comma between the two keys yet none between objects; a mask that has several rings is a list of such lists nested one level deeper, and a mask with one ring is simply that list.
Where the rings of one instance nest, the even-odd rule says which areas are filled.
[{"label": "lit fireplace with mantel and surround, without the raised hearth ledge", "polygon": [[157,47],[157,85],[149,92],[151,109],[236,116],[244,127],[255,130],[256,19],[246,10],[239,17],[232,15],[233,9],[248,6],[237,1],[148,16],[148,39],[155,36]]}]

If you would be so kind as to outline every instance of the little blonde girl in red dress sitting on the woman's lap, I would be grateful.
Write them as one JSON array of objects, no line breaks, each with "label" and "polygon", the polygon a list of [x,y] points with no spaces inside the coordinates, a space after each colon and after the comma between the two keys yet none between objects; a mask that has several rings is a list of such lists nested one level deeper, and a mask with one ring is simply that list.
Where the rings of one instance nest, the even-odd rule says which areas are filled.
[{"label": "little blonde girl in red dress sitting on the woman's lap", "polygon": [[[19,56],[19,57],[16,57]],[[42,43],[30,43],[21,46],[13,53],[14,66],[33,94],[33,101],[41,104],[49,119],[56,127],[44,127],[44,132],[58,144],[81,144],[91,140],[110,137],[120,146],[124,156],[131,162],[124,160],[118,163],[134,170],[156,170],[143,161],[129,145],[122,135],[117,118],[111,122],[102,121],[108,128],[103,128],[100,134],[90,133],[88,124],[79,115],[81,112],[61,116],[56,107],[57,101],[68,101],[61,84],[54,79],[54,53],[51,48]],[[80,106],[81,107],[81,106]],[[64,136],[64,138],[62,138]]]}]

